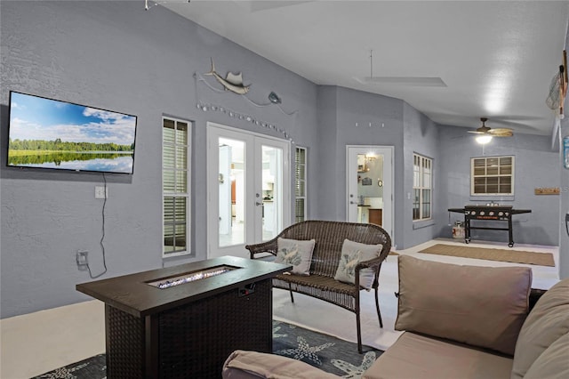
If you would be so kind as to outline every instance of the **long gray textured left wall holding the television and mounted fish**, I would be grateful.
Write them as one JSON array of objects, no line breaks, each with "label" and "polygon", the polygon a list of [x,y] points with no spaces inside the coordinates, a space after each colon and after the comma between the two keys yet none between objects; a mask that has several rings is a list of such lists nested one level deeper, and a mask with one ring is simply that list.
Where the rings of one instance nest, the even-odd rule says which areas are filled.
[{"label": "long gray textured left wall holding the television and mounted fish", "polygon": [[[191,260],[206,252],[205,122],[283,137],[246,121],[196,109],[193,74],[241,70],[248,97],[267,103],[275,91],[289,117],[276,107],[257,108],[240,96],[198,85],[203,101],[221,101],[275,122],[317,157],[317,86],[212,32],[143,2],[11,2],[1,6],[2,111],[1,318],[84,301],[75,285],[76,250],[89,250],[93,274],[101,265],[102,201],[94,198],[96,173],[38,172],[5,167],[9,91],[34,93],[138,116],[132,176],[108,174],[106,257],[109,278]],[[212,85],[215,85],[214,82]],[[163,262],[161,117],[195,121],[192,130],[192,259]],[[309,159],[309,172],[317,159]],[[309,198],[317,198],[309,187]]]}]

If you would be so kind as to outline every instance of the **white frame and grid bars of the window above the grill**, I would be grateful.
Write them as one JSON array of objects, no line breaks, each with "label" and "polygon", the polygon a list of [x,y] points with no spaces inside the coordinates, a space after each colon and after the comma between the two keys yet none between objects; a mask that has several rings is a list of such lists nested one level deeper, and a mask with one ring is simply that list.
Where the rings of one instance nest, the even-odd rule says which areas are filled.
[{"label": "white frame and grid bars of the window above the grill", "polygon": [[[498,165],[495,169],[490,170],[494,160],[498,160]],[[484,166],[476,165],[484,161]],[[502,164],[503,161],[503,164]],[[510,163],[510,164],[508,164]],[[477,173],[484,167],[484,174]],[[496,172],[494,172],[494,170]],[[470,158],[470,196],[514,196],[514,173],[516,171],[516,158],[515,156],[493,156],[493,157],[471,157]],[[502,183],[502,178],[504,179]],[[492,180],[489,183],[489,180]],[[477,183],[478,181],[478,183]],[[483,185],[480,181],[485,181],[485,188],[496,188],[497,191],[493,192],[480,192],[477,187]],[[500,189],[509,188],[509,192],[501,192]]]}]

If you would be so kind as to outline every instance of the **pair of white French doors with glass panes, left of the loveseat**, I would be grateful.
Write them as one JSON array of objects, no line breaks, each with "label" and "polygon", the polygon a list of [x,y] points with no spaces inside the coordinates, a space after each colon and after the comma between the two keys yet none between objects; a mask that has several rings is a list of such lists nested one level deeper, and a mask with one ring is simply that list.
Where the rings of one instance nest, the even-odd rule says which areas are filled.
[{"label": "pair of white French doors with glass panes, left of the loveseat", "polygon": [[290,143],[213,123],[207,141],[208,258],[248,257],[290,223]]}]

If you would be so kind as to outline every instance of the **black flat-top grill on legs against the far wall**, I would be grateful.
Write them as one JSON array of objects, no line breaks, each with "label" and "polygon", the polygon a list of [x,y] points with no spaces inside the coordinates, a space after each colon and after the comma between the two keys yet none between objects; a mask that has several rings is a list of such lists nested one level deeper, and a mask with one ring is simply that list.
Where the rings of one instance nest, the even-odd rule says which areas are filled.
[{"label": "black flat-top grill on legs against the far wall", "polygon": [[[532,212],[530,209],[514,209],[512,206],[501,206],[498,204],[464,206],[464,208],[450,208],[448,211],[464,214],[464,242],[467,244],[470,242],[470,230],[508,230],[509,247],[514,246],[512,215],[529,214]],[[508,222],[508,228],[472,226],[470,222],[473,220]]]}]

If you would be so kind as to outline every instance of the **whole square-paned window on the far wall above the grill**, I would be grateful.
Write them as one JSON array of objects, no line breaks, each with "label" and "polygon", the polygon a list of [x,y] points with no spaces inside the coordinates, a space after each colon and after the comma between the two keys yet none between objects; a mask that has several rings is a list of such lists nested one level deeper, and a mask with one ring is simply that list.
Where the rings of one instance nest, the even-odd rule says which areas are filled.
[{"label": "whole square-paned window on the far wall above the grill", "polygon": [[470,158],[471,195],[514,195],[514,157]]}]

